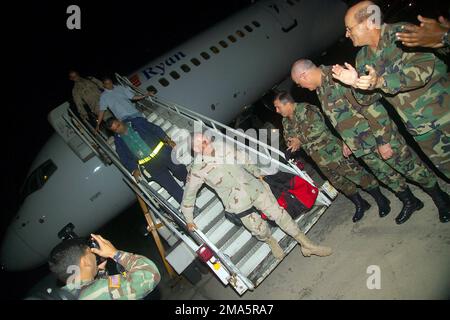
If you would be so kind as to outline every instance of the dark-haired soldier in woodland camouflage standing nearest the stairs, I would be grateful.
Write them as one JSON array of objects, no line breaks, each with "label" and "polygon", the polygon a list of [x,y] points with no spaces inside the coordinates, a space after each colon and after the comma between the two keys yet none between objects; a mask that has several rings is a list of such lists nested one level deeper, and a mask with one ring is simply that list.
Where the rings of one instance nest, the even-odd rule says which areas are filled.
[{"label": "dark-haired soldier in woodland camouflage standing nearest the stairs", "polygon": [[[295,103],[287,92],[277,94],[274,105],[283,116],[283,135],[289,149],[297,151],[303,148],[332,185],[355,204],[353,222],[361,220],[364,212],[370,208],[369,203],[358,193],[357,185],[374,196],[380,212],[386,207],[388,199],[379,191],[377,180],[354,158],[344,158],[342,141],[328,129],[316,106]],[[384,210],[388,213],[388,209]]]}]

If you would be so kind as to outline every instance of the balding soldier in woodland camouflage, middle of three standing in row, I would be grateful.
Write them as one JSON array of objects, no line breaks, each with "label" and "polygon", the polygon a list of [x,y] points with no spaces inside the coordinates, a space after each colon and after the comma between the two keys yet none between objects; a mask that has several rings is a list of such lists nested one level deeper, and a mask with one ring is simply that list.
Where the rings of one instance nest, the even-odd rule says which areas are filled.
[{"label": "balding soldier in woodland camouflage, middle of three standing in row", "polygon": [[[345,155],[353,153],[363,160],[375,176],[402,200],[403,209],[395,219],[398,224],[423,208],[423,203],[411,193],[404,177],[424,189],[436,185],[436,177],[407,146],[379,102],[362,107],[350,89],[333,79],[331,67],[317,67],[310,60],[297,61],[292,68],[292,78],[300,86],[316,90],[324,112],[345,142]],[[433,198],[441,220],[448,219],[446,196],[440,190]],[[388,209],[389,202],[385,206]],[[380,216],[385,215],[380,210]]]}]

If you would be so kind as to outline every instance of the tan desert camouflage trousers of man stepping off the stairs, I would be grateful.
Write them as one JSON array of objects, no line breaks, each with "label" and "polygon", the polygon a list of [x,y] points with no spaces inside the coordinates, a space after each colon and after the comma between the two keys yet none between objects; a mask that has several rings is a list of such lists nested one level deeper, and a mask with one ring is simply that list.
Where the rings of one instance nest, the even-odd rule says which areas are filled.
[{"label": "tan desert camouflage trousers of man stepping off the stairs", "polygon": [[[264,183],[264,189],[260,190],[259,196],[253,202],[253,206],[262,211],[267,218],[275,223],[285,233],[291,237],[295,237],[301,231],[298,228],[295,221],[291,218],[289,213],[286,212],[277,202],[277,199],[270,191],[270,187],[267,183]],[[263,220],[261,216],[254,212],[243,218],[241,218],[244,226],[260,241],[266,241],[271,237],[269,224]]]}]

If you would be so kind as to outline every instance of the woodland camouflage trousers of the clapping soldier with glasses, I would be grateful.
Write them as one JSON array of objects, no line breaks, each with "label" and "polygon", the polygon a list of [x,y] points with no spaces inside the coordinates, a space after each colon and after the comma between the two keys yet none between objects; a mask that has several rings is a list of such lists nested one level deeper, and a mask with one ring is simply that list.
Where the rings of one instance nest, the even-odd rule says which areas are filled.
[{"label": "woodland camouflage trousers of the clapping soldier with glasses", "polygon": [[450,179],[450,123],[414,139],[436,168]]}]

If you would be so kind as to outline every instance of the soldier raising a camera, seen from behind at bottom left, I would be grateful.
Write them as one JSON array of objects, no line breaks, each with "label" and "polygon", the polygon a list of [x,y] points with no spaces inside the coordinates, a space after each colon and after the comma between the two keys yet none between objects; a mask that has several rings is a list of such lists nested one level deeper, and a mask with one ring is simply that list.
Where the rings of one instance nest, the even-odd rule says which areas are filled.
[{"label": "soldier raising a camera, seen from behind at bottom left", "polygon": [[[76,238],[65,240],[52,250],[49,266],[66,283],[62,290],[78,300],[135,300],[144,298],[157,286],[161,275],[152,261],[119,251],[101,236],[92,237],[98,242],[99,249],[90,249],[86,239]],[[95,254],[114,259],[125,272],[96,278],[104,265],[97,266]]]}]

